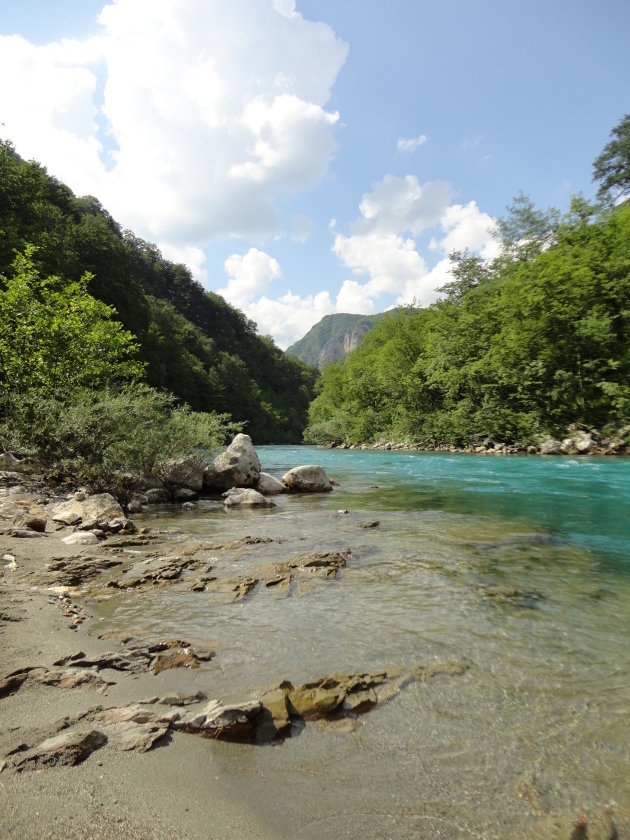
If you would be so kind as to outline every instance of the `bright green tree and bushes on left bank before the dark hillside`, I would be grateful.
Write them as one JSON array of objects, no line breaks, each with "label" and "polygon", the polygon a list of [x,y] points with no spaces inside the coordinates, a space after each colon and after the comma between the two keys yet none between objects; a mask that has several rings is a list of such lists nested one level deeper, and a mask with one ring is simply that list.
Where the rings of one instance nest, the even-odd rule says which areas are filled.
[{"label": "bright green tree and bushes on left bank before the dark hillside", "polygon": [[125,503],[139,476],[208,457],[240,425],[142,385],[137,344],[89,279],[40,277],[32,248],[0,277],[0,447]]}]

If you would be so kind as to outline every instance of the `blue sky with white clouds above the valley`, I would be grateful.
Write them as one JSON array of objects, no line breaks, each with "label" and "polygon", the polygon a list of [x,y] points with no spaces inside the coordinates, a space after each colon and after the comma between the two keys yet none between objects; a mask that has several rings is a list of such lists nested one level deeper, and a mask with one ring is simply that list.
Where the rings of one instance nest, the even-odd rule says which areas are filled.
[{"label": "blue sky with white clouds above the valley", "polygon": [[428,305],[630,112],[629,0],[0,0],[0,137],[286,348]]}]

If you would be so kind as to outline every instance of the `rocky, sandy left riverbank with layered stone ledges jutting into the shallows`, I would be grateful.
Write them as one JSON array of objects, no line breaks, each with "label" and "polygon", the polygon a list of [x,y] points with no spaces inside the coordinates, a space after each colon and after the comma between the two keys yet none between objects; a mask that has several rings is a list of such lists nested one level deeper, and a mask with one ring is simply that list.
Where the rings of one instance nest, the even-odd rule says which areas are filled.
[{"label": "rocky, sandy left riverbank with layered stone ledges jutting into the shallows", "polygon": [[[295,490],[312,491],[312,475],[309,468],[310,478]],[[468,670],[455,658],[313,673],[308,681],[287,672],[236,698],[217,695],[210,678],[202,689],[196,678],[182,690],[182,674],[194,672],[203,683],[210,664],[220,664],[211,628],[207,638],[137,627],[102,633],[93,619],[99,604],[166,589],[244,604],[260,591],[308,595],[324,582],[344,585],[352,547],[293,551],[278,543],[277,561],[269,562],[273,533],[214,542],[139,527],[107,494],[60,494],[16,473],[5,472],[0,482],[2,836],[285,836],[235,798],[233,779],[219,775],[210,790],[202,784],[195,768],[212,761],[209,740],[265,749],[314,726],[320,738],[343,736],[375,707],[398,702],[405,687]],[[243,558],[247,572],[235,574]],[[531,597],[505,587],[482,595],[519,605]],[[528,777],[515,795],[543,814],[544,787]],[[619,836],[605,809],[571,819],[549,815],[545,826],[549,837]]]}]

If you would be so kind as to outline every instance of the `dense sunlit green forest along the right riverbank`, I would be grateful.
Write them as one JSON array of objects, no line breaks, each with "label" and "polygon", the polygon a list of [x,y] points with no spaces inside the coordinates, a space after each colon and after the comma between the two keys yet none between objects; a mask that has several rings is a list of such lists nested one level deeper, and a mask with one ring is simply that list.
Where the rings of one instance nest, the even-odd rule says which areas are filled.
[{"label": "dense sunlit green forest along the right riverbank", "polygon": [[465,445],[630,420],[630,115],[594,164],[599,201],[520,195],[492,262],[451,256],[426,309],[381,319],[323,372],[305,438]]}]

